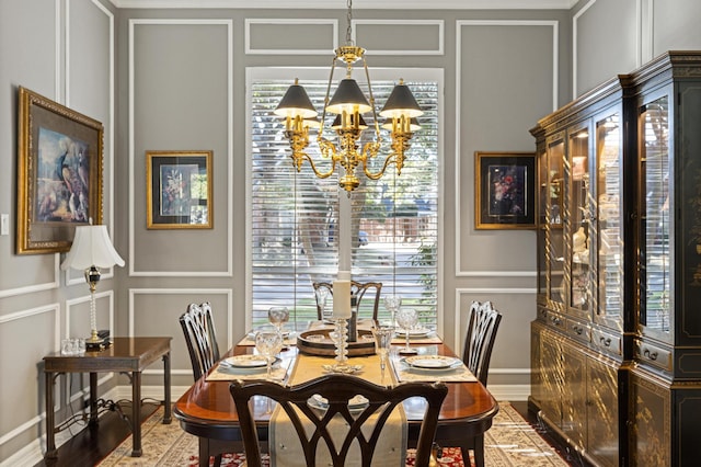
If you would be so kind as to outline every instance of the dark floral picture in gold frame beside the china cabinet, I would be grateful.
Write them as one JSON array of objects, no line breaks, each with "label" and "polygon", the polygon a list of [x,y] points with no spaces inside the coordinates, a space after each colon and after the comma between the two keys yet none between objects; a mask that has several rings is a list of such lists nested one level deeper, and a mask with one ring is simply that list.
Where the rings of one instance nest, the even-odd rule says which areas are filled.
[{"label": "dark floral picture in gold frame beside the china cabinet", "polygon": [[474,153],[476,229],[536,228],[536,153]]}]

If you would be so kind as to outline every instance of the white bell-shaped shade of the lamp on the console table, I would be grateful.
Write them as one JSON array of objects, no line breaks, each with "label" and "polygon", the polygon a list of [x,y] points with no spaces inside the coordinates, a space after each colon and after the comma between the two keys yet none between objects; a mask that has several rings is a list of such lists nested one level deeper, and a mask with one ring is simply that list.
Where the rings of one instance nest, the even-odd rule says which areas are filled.
[{"label": "white bell-shaped shade of the lamp on the console table", "polygon": [[85,270],[90,266],[123,266],[124,260],[112,246],[106,226],[76,227],[76,237],[61,269]]}]

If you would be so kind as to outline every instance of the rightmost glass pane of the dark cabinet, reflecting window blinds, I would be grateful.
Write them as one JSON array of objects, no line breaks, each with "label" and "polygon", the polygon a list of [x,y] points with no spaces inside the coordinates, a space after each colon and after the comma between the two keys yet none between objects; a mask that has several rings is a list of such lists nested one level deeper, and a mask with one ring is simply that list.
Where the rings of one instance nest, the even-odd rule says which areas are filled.
[{"label": "rightmost glass pane of the dark cabinet, reflecting window blinds", "polygon": [[669,340],[670,264],[669,100],[639,109],[640,162],[640,324],[644,334]]}]

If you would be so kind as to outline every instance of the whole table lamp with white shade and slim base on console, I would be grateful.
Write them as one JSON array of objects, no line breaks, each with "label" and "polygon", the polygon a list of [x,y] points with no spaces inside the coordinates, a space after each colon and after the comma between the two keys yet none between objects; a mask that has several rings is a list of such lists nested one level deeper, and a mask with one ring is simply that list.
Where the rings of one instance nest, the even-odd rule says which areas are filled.
[{"label": "whole table lamp with white shade and slim base on console", "polygon": [[100,282],[100,267],[124,265],[124,260],[112,246],[106,226],[76,227],[76,237],[61,269],[69,267],[84,271],[85,282],[90,286],[90,338],[85,340],[87,349],[100,349],[104,343],[97,337],[97,318],[95,316],[95,288]]}]

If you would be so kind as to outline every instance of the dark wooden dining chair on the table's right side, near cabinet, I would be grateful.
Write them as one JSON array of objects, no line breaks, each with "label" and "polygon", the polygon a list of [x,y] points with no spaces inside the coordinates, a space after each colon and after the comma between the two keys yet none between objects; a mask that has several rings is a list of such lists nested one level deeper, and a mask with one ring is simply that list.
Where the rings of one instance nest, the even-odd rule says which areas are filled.
[{"label": "dark wooden dining chair on the table's right side, near cabinet", "polygon": [[[501,321],[502,315],[494,309],[491,301],[472,301],[470,305],[462,362],[484,386],[486,386],[492,349]],[[462,445],[468,446],[468,451],[473,451],[476,466],[484,465],[484,435],[480,434],[463,440]],[[468,454],[463,447],[462,456],[464,459],[470,458]]]}]

